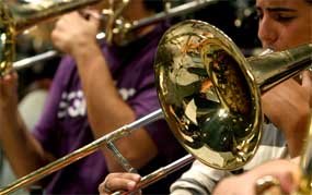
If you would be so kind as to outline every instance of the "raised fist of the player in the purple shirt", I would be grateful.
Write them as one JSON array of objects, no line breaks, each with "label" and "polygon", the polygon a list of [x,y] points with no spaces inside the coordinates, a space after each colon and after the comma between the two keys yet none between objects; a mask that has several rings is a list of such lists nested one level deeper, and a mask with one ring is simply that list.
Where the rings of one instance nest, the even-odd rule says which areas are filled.
[{"label": "raised fist of the player in the purple shirt", "polygon": [[71,56],[80,54],[89,46],[97,45],[96,34],[100,26],[100,16],[96,11],[84,11],[85,19],[79,12],[72,12],[60,17],[51,33],[54,45]]}]

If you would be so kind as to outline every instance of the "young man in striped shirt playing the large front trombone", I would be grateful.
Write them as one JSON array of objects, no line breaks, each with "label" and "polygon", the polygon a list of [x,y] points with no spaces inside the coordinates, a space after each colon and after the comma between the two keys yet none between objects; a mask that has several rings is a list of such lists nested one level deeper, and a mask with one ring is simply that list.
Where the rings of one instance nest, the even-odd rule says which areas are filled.
[{"label": "young man in striped shirt playing the large front trombone", "polygon": [[[312,42],[311,0],[256,0],[256,10],[259,17],[258,37],[264,48],[280,51]],[[255,157],[239,173],[247,172],[271,159],[289,159],[300,155],[312,105],[310,72],[305,71],[301,76],[301,81],[289,78],[262,96],[262,107],[268,122],[264,124],[263,139]],[[280,166],[282,167],[281,163]],[[255,178],[262,176],[262,171],[258,170],[264,168],[250,172]],[[195,160],[193,167],[172,184],[171,193],[211,194],[219,181],[233,173],[235,172],[213,170]],[[247,180],[247,176],[242,179]],[[139,180],[137,174],[114,173],[105,179],[99,190],[102,194],[105,194],[104,188],[134,190]],[[243,191],[240,190],[246,187],[245,184],[232,186],[233,188],[218,192],[241,194]]]}]

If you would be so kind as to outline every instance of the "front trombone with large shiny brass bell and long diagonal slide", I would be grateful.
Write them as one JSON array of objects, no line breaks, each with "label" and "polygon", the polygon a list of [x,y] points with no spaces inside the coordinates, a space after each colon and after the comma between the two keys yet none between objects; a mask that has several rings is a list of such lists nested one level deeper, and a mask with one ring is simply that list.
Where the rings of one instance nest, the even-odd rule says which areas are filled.
[{"label": "front trombone with large shiny brass bell and long diagonal slide", "polygon": [[261,141],[261,93],[307,69],[311,53],[312,44],[308,44],[245,59],[217,27],[192,20],[178,23],[163,35],[157,51],[154,69],[162,109],[16,180],[0,194],[41,180],[103,145],[132,171],[114,141],[163,117],[190,155],[145,176],[140,187],[192,162],[194,157],[216,169],[239,169],[252,159]]}]

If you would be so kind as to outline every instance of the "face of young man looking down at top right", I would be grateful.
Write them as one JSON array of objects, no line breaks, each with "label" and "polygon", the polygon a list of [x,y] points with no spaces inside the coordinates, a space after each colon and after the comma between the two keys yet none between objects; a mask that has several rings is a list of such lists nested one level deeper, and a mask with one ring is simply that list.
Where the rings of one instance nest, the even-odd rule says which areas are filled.
[{"label": "face of young man looking down at top right", "polygon": [[256,0],[264,48],[284,50],[312,42],[312,4],[304,0]]}]

